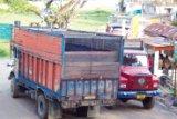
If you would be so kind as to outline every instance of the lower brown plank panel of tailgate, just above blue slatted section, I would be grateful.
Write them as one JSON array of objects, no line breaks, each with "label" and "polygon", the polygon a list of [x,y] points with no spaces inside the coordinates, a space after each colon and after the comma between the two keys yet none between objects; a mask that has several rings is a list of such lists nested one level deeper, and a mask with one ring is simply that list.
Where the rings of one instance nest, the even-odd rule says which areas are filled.
[{"label": "lower brown plank panel of tailgate, just above blue slatted section", "polygon": [[118,78],[118,62],[67,62],[62,78]]}]

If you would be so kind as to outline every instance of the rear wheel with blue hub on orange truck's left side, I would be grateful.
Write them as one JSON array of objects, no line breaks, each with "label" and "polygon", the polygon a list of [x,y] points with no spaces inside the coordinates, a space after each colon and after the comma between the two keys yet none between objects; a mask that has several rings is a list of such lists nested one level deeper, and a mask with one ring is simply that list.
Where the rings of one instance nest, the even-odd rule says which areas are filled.
[{"label": "rear wheel with blue hub on orange truck's left side", "polygon": [[48,118],[48,100],[45,99],[44,95],[39,95],[37,99],[37,111],[40,119]]}]

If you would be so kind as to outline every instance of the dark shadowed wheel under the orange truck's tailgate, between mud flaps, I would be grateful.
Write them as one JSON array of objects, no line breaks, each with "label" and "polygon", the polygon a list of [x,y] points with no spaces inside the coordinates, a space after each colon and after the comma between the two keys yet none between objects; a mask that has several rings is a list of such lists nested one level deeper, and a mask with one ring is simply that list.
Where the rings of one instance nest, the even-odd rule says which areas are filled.
[{"label": "dark shadowed wheel under the orange truck's tailgate, between mud flaps", "polygon": [[87,106],[79,107],[79,108],[76,108],[76,116],[77,117],[87,117],[87,111],[88,111]]}]

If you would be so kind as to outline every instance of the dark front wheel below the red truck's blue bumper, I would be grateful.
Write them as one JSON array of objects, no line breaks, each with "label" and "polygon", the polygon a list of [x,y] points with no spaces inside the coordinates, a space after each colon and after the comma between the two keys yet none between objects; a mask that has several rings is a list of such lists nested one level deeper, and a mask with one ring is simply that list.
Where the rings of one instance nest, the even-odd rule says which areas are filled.
[{"label": "dark front wheel below the red truck's blue bumper", "polygon": [[155,99],[153,97],[147,97],[143,100],[143,106],[145,109],[152,109],[155,105]]}]

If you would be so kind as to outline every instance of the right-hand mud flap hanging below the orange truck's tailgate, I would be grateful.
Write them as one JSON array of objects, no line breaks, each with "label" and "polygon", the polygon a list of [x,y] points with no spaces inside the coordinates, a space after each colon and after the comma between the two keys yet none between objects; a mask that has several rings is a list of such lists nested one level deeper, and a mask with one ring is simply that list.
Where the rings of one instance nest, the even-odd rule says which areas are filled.
[{"label": "right-hand mud flap hanging below the orange truck's tailgate", "polygon": [[96,118],[100,116],[100,106],[94,106],[94,107],[90,107],[88,111],[87,111],[87,117],[88,118]]}]

